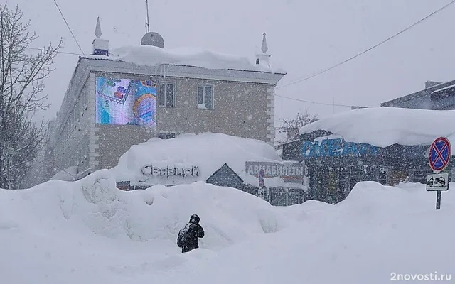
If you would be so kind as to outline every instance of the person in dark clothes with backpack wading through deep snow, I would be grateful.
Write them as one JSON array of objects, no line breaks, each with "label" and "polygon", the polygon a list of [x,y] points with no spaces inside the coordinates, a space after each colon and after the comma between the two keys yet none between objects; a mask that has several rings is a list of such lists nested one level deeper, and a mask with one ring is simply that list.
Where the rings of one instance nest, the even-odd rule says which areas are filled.
[{"label": "person in dark clothes with backpack wading through deep snow", "polygon": [[190,222],[178,232],[177,246],[182,248],[182,253],[198,249],[198,238],[203,238],[205,235],[199,221],[200,218],[197,214],[191,215]]}]

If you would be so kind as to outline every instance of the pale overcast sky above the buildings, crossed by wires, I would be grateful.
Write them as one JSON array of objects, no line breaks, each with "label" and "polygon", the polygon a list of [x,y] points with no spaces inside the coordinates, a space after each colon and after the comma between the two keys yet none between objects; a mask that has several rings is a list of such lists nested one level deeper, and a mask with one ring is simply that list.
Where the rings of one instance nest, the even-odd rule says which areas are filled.
[{"label": "pale overcast sky above the buildings, crossed by wires", "polygon": [[[92,51],[100,16],[102,38],[110,47],[139,44],[145,33],[145,0],[57,0],[86,54]],[[19,4],[42,47],[63,38],[62,51],[80,53],[53,0],[9,0]],[[306,77],[359,53],[410,26],[449,0],[150,0],[151,31],[163,35],[165,48],[193,46],[250,56],[267,33],[272,64],[287,71],[278,86]],[[379,106],[424,88],[427,80],[455,80],[455,4],[385,45],[325,74],[277,94],[314,102]],[[60,54],[46,82],[55,116],[77,62]],[[308,109],[320,117],[346,107],[276,98],[276,120]]]}]

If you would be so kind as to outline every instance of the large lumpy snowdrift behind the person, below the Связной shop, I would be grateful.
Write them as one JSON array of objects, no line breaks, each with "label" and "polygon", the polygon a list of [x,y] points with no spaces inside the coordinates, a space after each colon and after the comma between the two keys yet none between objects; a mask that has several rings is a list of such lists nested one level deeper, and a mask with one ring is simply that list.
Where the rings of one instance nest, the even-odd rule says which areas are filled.
[{"label": "large lumpy snowdrift behind the person, below the \u0421\u0432\u044f\u0437\u043d\u043e\u0439 shop", "polygon": [[77,182],[1,190],[0,229],[175,243],[178,230],[197,213],[207,229],[201,243],[213,249],[284,228],[287,221],[270,208],[253,195],[205,182],[123,192],[109,170],[100,170]]}]

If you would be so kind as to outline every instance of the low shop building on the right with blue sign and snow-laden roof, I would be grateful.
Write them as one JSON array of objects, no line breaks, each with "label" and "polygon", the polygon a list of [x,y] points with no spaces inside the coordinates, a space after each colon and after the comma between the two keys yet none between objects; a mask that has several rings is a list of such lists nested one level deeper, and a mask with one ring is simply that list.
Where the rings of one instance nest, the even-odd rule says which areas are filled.
[{"label": "low shop building on the right with blue sign and snow-laden roof", "polygon": [[[434,139],[455,141],[455,110],[394,107],[334,114],[303,126],[301,137],[283,145],[283,160],[308,167],[311,199],[340,202],[360,181],[396,185],[426,182],[429,147]],[[453,153],[453,152],[452,152]],[[444,170],[454,176],[455,162]]]}]

